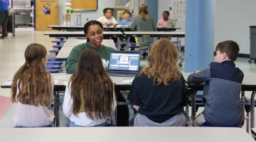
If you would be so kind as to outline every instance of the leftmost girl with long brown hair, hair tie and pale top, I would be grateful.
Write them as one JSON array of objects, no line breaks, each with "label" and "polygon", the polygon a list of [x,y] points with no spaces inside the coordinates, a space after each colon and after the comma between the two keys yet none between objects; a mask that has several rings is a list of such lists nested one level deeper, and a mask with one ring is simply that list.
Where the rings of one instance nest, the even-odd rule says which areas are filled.
[{"label": "leftmost girl with long brown hair, hair tie and pale top", "polygon": [[54,80],[45,70],[47,51],[33,43],[25,50],[25,63],[13,77],[11,101],[17,103],[13,122],[17,127],[51,126],[54,114],[49,110]]}]

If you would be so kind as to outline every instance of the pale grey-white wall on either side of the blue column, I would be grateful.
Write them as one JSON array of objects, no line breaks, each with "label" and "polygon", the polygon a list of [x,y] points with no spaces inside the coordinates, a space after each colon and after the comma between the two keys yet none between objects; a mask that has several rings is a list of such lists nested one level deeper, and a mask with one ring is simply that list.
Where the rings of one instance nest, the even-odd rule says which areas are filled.
[{"label": "pale grey-white wall on either side of the blue column", "polygon": [[[162,12],[169,9],[169,0],[158,1],[158,20]],[[216,0],[215,46],[220,41],[234,40],[240,46],[241,54],[250,54],[250,28],[256,25],[255,0]],[[185,31],[185,21],[178,20],[177,26]],[[214,50],[214,49],[213,49]]]}]

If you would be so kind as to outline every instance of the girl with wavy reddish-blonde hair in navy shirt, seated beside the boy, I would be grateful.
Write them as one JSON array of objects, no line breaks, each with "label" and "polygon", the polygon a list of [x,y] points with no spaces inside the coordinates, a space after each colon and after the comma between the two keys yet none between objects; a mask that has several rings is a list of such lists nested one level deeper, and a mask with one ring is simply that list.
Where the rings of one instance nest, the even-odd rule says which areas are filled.
[{"label": "girl with wavy reddish-blonde hair in navy shirt, seated beside the boy", "polygon": [[[185,80],[177,68],[178,52],[170,40],[156,41],[148,65],[134,80],[128,100],[137,115],[134,126],[185,126]],[[191,121],[190,121],[191,122]]]}]

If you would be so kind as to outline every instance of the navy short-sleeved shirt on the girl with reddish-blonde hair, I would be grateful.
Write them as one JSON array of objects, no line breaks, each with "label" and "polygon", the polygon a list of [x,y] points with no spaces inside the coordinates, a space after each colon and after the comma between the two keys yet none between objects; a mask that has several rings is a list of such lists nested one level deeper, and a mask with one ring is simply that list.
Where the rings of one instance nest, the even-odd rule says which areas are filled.
[{"label": "navy short-sleeved shirt on the girl with reddish-blonde hair", "polygon": [[[136,76],[128,95],[128,100],[140,106],[138,113],[146,115],[151,121],[162,123],[184,111],[186,100],[185,80],[170,80],[164,84],[153,85],[153,79],[144,74]],[[184,104],[185,105],[185,104]]]}]

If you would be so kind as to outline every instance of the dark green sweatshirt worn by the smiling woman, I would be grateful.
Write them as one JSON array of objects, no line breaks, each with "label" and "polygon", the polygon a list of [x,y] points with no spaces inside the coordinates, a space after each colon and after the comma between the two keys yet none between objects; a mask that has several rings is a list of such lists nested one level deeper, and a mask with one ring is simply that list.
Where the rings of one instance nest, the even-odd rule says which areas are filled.
[{"label": "dark green sweatshirt worn by the smiling woman", "polygon": [[91,47],[89,45],[88,42],[79,44],[71,50],[70,55],[68,55],[68,57],[67,57],[67,62],[66,62],[66,72],[67,73],[72,74],[75,71],[77,71],[78,57],[80,56],[82,51],[85,49],[92,49],[92,50],[98,51],[100,54],[100,57],[102,59],[104,68],[107,68],[107,66],[108,66],[108,62],[109,62],[109,58],[110,58],[110,51],[115,50],[112,47],[106,47],[104,45],[102,45],[102,47],[100,49],[94,49],[93,47]]}]

